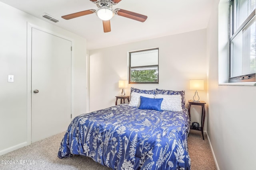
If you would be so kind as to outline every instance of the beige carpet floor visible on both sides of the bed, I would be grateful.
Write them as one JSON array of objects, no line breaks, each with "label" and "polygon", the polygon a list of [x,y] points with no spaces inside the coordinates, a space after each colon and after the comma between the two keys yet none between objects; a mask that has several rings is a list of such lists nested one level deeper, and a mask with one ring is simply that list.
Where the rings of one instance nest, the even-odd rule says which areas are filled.
[{"label": "beige carpet floor visible on both sides of the bed", "polygon": [[[64,133],[60,133],[0,156],[0,170],[111,170],[86,156],[58,158],[57,153],[63,136]],[[208,139],[206,136],[204,138],[205,140],[199,131],[190,132],[188,150],[191,170],[216,170]],[[15,164],[2,164],[3,161],[14,161]]]}]

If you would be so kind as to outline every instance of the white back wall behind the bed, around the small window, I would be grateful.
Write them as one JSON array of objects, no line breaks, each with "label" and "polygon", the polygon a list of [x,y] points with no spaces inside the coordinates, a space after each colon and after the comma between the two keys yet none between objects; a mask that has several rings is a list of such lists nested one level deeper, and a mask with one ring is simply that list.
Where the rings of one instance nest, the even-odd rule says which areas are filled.
[{"label": "white back wall behind the bed, around the small window", "polygon": [[[189,80],[204,79],[206,84],[206,29],[90,51],[90,111],[115,104],[115,96],[121,94],[118,80],[128,80],[129,51],[156,47],[159,84],[130,84],[126,94],[130,94],[131,86],[145,90],[159,88],[185,90],[186,103],[192,99],[194,91],[189,90]],[[206,101],[206,91],[198,91],[201,100]],[[192,107],[195,114],[192,121],[200,122],[200,109]]]}]

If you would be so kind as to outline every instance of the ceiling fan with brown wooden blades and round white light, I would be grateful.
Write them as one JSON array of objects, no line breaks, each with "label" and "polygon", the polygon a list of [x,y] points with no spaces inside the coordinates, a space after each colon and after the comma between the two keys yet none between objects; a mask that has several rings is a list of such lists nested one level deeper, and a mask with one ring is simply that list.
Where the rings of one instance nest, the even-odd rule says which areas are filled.
[{"label": "ceiling fan with brown wooden blades and round white light", "polygon": [[127,11],[127,10],[122,10],[119,8],[113,10],[112,6],[118,4],[121,0],[90,0],[90,1],[96,4],[96,6],[98,7],[97,10],[85,10],[81,12],[76,12],[73,14],[62,16],[62,18],[64,18],[65,20],[69,20],[72,18],[96,13],[96,15],[103,21],[104,33],[111,31],[110,19],[114,15],[123,16],[126,18],[130,18],[132,20],[140,21],[140,22],[144,22],[148,18],[147,16],[144,16],[142,14],[138,14],[138,13]]}]

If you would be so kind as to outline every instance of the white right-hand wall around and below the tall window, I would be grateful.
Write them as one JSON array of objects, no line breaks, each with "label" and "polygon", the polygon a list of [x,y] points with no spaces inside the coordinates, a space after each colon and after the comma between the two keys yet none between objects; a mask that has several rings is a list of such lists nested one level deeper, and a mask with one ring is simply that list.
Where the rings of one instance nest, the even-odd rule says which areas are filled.
[{"label": "white right-hand wall around and below the tall window", "polygon": [[223,8],[228,8],[228,0],[220,0],[220,8],[214,2],[207,29],[208,136],[220,170],[254,169],[256,87],[218,85],[218,59],[228,54],[226,37],[218,39],[218,26],[226,27],[224,22],[218,25],[218,17],[227,16]]}]

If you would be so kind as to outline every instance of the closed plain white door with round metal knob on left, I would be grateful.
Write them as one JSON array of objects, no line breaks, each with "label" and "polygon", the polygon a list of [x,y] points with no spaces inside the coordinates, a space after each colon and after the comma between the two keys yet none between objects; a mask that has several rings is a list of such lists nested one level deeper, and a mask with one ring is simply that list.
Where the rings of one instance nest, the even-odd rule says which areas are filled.
[{"label": "closed plain white door with round metal knob on left", "polygon": [[32,28],[31,70],[33,143],[66,131],[70,123],[71,41]]}]

